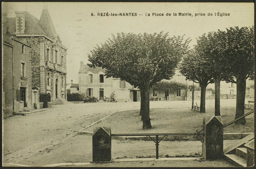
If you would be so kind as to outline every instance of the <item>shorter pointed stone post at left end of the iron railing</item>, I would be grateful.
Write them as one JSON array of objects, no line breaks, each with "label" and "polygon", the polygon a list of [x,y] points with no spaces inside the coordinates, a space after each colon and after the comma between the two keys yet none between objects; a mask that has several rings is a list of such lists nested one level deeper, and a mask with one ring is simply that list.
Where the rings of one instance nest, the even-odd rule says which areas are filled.
[{"label": "shorter pointed stone post at left end of the iron railing", "polygon": [[111,128],[95,127],[92,135],[92,162],[111,161]]}]

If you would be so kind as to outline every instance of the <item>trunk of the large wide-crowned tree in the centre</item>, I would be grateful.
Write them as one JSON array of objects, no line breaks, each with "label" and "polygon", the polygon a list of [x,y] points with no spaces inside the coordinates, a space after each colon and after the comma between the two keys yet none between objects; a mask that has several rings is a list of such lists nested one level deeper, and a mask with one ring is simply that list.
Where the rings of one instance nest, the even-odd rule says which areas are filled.
[{"label": "trunk of the large wide-crowned tree in the centre", "polygon": [[151,129],[151,123],[149,118],[149,87],[140,88],[141,90],[141,118],[143,121],[143,129]]}]

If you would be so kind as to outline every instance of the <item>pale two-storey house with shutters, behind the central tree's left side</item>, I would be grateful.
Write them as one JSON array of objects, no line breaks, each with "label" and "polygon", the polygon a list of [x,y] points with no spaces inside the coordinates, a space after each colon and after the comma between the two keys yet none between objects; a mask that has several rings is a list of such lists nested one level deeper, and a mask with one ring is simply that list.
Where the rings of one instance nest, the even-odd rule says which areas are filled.
[{"label": "pale two-storey house with shutters, behind the central tree's left side", "polygon": [[[90,68],[80,62],[79,70],[79,93],[85,97],[96,97],[99,101],[109,100],[112,93],[115,99],[125,101],[130,99],[132,85],[125,80],[109,77],[106,78],[105,69]],[[132,100],[132,99],[131,99]]]}]

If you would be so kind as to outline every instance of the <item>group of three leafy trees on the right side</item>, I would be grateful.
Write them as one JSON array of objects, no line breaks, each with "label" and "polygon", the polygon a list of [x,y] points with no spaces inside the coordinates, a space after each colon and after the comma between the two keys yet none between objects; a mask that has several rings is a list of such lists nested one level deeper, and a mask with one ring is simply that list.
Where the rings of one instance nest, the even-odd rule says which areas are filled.
[{"label": "group of three leafy trees on the right side", "polygon": [[[215,82],[215,115],[220,114],[220,81],[237,83],[235,118],[244,115],[246,79],[254,80],[254,27],[230,27],[197,38],[181,62],[181,73],[201,87],[200,112],[205,113],[205,89]],[[237,123],[245,124],[245,118]]]}]

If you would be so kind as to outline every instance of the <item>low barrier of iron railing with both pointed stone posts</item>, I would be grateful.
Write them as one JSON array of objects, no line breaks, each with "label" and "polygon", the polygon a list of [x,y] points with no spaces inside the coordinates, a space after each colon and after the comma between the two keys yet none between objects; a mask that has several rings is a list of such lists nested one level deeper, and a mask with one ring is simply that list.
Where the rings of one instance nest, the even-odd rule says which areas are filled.
[{"label": "low barrier of iron railing with both pointed stone posts", "polygon": [[[93,157],[102,156],[100,159],[93,159],[93,162],[111,161],[111,142],[109,138],[114,136],[147,136],[155,142],[156,159],[159,158],[158,147],[161,140],[166,136],[196,136],[201,139],[202,156],[204,159],[220,159],[223,157],[223,124],[220,116],[204,117],[203,129],[195,133],[130,133],[112,134],[110,127],[97,127],[93,129]],[[155,140],[151,137],[155,136]],[[159,139],[159,136],[162,138]],[[108,158],[106,158],[108,156]]]}]

